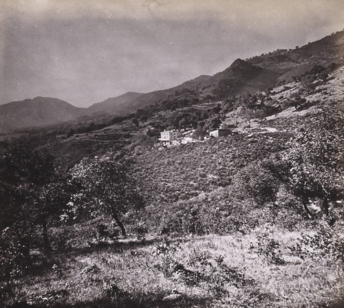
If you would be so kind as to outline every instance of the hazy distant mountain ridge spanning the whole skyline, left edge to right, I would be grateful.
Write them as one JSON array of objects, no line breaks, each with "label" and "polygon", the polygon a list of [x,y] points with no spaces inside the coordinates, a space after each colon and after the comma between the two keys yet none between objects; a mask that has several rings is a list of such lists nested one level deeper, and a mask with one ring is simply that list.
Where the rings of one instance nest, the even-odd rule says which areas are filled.
[{"label": "hazy distant mountain ridge spanning the whole skyline, left edge to right", "polygon": [[170,89],[147,94],[128,92],[97,102],[88,109],[74,107],[56,98],[34,98],[0,105],[0,133],[30,126],[56,124],[75,120],[81,115],[128,115],[138,109],[178,99],[180,91],[193,91],[200,100],[224,100],[235,94],[254,94],[269,87],[290,82],[308,72],[314,65],[344,63],[344,30],[293,50],[276,50],[247,60],[237,59],[230,67],[213,76],[201,75]]}]

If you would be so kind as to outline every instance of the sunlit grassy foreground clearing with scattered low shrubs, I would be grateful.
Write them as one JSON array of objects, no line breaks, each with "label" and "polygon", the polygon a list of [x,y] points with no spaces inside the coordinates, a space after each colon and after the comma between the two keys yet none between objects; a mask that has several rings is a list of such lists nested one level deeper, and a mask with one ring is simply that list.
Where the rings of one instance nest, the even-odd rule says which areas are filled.
[{"label": "sunlit grassy foreground clearing with scattered low shrubs", "polygon": [[[54,252],[15,282],[13,307],[342,307],[325,230],[121,239]],[[326,232],[325,232],[326,233]],[[39,259],[39,257],[37,257]]]}]

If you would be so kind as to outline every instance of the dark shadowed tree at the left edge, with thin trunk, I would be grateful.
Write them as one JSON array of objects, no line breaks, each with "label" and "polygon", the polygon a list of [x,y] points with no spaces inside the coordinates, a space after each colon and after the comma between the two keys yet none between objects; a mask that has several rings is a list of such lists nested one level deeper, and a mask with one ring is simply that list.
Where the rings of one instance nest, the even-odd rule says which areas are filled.
[{"label": "dark shadowed tree at the left edge, with thin trunk", "polygon": [[41,225],[44,248],[50,250],[48,220],[68,199],[67,181],[56,174],[53,157],[19,144],[8,148],[0,166],[1,229]]}]

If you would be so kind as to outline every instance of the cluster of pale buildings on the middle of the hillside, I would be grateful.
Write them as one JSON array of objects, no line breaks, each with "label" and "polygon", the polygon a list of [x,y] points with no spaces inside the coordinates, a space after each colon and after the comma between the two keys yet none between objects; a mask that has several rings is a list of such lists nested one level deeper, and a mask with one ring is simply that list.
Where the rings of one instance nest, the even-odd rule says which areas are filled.
[{"label": "cluster of pale buildings on the middle of the hillside", "polygon": [[[186,144],[189,142],[197,142],[200,139],[195,139],[193,131],[162,131],[160,133],[159,141],[165,146],[174,146],[178,144]],[[216,129],[209,132],[209,137],[226,137],[232,133],[231,129]]]}]

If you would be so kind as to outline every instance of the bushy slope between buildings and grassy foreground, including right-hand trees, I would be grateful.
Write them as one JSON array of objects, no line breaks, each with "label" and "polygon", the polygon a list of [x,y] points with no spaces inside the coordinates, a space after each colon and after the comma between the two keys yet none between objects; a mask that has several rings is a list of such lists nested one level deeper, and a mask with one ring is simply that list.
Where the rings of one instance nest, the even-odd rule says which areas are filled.
[{"label": "bushy slope between buildings and grassy foreground, including right-hand trees", "polygon": [[142,153],[132,172],[149,200],[142,214],[154,221],[149,230],[248,232],[262,223],[292,230],[309,217],[331,216],[343,187],[336,112],[328,106],[294,118],[297,129],[288,119],[279,123],[289,133],[231,135]]}]

